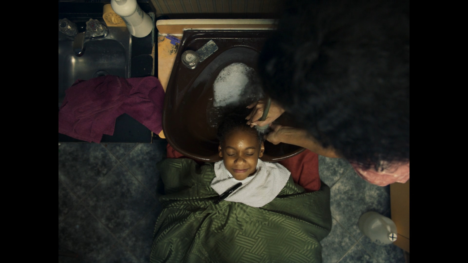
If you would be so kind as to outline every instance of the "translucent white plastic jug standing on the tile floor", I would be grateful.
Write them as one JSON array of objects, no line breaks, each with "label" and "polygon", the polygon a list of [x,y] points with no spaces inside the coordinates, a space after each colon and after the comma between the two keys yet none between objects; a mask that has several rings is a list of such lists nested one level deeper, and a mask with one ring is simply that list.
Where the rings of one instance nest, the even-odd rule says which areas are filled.
[{"label": "translucent white plastic jug standing on the tile floor", "polygon": [[358,222],[359,230],[378,245],[391,244],[396,240],[396,226],[392,219],[377,212],[366,212]]}]

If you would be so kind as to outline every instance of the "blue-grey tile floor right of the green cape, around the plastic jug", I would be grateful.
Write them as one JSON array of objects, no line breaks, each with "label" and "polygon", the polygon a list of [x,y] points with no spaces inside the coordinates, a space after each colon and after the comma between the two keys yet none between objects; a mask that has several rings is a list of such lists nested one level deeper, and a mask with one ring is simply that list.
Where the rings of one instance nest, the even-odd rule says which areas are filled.
[{"label": "blue-grey tile floor right of the green cape, around the plastic jug", "polygon": [[319,174],[331,187],[333,218],[331,232],[321,242],[323,263],[404,263],[401,248],[376,245],[358,229],[359,217],[365,212],[390,217],[390,187],[367,183],[342,159],[319,156]]}]

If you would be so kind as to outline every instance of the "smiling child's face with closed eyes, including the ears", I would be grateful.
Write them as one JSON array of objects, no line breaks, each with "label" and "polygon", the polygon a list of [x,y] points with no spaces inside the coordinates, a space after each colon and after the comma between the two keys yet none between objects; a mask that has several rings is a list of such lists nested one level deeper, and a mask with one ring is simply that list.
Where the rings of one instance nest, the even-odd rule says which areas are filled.
[{"label": "smiling child's face with closed eyes, including the ears", "polygon": [[224,148],[218,147],[224,167],[239,181],[255,173],[264,150],[263,142],[259,145],[256,135],[246,131],[231,132],[225,138]]}]

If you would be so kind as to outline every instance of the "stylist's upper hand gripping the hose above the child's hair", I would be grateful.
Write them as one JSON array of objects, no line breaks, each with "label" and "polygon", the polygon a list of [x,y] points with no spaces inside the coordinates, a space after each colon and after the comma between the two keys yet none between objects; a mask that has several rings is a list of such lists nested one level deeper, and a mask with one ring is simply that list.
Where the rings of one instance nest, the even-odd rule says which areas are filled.
[{"label": "stylist's upper hand gripping the hose above the child's hair", "polygon": [[248,120],[247,124],[250,125],[250,127],[254,127],[255,125],[258,126],[264,126],[267,124],[271,124],[274,120],[276,120],[285,110],[281,108],[278,103],[275,101],[271,100],[270,104],[270,110],[268,111],[268,115],[264,121],[259,121],[259,119],[262,117],[263,112],[265,110],[266,106],[266,100],[259,100],[258,102],[254,102],[247,106],[249,109],[253,109],[252,112],[250,112],[249,116],[247,116],[245,119]]}]

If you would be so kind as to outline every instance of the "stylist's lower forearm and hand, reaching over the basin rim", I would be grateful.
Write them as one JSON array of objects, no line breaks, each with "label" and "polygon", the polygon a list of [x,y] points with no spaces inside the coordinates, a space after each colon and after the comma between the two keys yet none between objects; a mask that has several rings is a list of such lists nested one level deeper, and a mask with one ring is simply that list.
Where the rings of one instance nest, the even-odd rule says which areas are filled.
[{"label": "stylist's lower forearm and hand, reaching over the basin rim", "polygon": [[332,147],[324,148],[306,130],[287,127],[278,124],[271,124],[272,131],[265,135],[265,139],[272,144],[288,143],[304,147],[319,155],[329,158],[340,158]]}]

